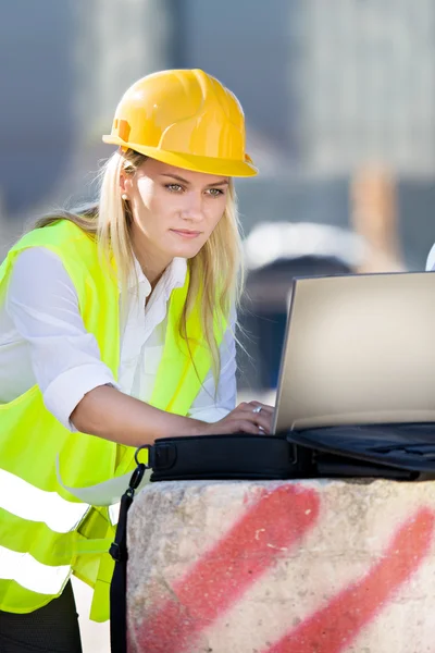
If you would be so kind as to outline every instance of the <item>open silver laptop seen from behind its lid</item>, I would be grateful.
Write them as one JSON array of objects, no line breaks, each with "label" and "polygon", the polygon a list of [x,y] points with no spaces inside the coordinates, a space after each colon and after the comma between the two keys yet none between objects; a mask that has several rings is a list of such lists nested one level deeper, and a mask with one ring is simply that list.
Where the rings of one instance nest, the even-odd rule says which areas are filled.
[{"label": "open silver laptop seen from behind its lid", "polygon": [[273,433],[435,421],[435,272],[295,279]]}]

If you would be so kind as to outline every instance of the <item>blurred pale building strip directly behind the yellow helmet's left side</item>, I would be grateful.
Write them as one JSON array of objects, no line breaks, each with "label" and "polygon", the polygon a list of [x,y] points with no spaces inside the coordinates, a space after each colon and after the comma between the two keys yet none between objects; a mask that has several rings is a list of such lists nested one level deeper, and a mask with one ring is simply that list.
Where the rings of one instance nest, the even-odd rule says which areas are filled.
[{"label": "blurred pale building strip directly behind the yellow helmet's left side", "polygon": [[76,0],[77,121],[86,143],[112,125],[122,94],[172,64],[172,2]]}]

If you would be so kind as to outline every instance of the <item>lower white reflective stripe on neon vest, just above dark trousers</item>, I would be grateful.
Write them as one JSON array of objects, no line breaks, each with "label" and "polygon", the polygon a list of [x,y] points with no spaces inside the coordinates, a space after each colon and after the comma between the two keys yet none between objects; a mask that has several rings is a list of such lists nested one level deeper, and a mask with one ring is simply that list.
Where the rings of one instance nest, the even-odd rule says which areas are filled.
[{"label": "lower white reflective stripe on neon vest, just above dark trousers", "polygon": [[52,567],[38,563],[29,553],[17,553],[0,546],[0,578],[15,580],[38,594],[59,594],[70,578],[71,566]]}]

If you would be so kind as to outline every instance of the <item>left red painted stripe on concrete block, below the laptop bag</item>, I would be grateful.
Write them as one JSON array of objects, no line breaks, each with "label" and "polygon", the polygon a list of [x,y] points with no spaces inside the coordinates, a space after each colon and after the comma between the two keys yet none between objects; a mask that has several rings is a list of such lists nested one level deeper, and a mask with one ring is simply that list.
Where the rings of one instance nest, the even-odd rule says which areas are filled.
[{"label": "left red painted stripe on concrete block, below the laptop bag", "polygon": [[[132,651],[191,651],[200,632],[296,545],[316,521],[319,496],[300,484],[264,491],[257,504],[172,588],[174,600],[145,617]],[[136,646],[136,648],[135,648]]]}]

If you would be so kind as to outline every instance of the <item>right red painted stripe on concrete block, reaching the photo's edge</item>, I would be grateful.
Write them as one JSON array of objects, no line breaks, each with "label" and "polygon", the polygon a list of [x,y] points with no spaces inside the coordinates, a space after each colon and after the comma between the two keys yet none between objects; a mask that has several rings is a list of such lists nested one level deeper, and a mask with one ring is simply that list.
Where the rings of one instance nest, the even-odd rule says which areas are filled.
[{"label": "right red painted stripe on concrete block, reaching the photo's edge", "polygon": [[420,509],[396,533],[382,559],[359,582],[333,597],[263,653],[340,653],[382,611],[422,564],[431,547],[435,516]]}]

